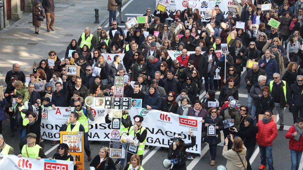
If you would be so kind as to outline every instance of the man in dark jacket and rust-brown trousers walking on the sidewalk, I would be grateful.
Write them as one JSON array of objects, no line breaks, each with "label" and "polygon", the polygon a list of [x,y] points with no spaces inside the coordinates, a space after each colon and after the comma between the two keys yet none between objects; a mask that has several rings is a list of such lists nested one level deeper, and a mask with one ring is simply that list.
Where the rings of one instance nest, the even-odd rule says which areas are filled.
[{"label": "man in dark jacket and rust-brown trousers walking on the sidewalk", "polygon": [[[54,29],[53,29],[54,22],[55,22],[54,0],[44,0],[44,1],[42,1],[42,7],[45,10],[47,32],[50,32],[49,30],[54,31]],[[50,18],[52,19],[51,23],[49,23]]]}]

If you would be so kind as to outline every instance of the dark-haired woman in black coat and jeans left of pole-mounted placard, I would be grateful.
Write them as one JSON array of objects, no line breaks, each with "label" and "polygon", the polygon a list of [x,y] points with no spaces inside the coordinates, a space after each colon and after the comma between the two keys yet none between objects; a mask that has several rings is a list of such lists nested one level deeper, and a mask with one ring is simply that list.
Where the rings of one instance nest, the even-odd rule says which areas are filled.
[{"label": "dark-haired woman in black coat and jeans left of pole-mounted placard", "polygon": [[[207,51],[203,54],[207,58],[207,76],[205,79],[205,91],[208,92],[208,88],[213,90],[214,88],[214,77],[216,74],[216,69],[219,64],[219,59],[215,54],[213,46],[209,46]],[[209,82],[209,83],[208,83]]]}]

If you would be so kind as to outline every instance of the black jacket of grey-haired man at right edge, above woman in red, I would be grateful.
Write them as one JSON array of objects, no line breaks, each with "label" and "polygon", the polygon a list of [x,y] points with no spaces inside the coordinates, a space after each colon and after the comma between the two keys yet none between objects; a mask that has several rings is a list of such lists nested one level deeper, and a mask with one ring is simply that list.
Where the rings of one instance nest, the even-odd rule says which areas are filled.
[{"label": "black jacket of grey-haired man at right edge, above woman in red", "polygon": [[297,107],[303,106],[303,94],[302,94],[302,89],[303,87],[299,87],[298,83],[295,83],[290,86],[289,91],[287,93],[287,101],[288,104],[295,105]]}]

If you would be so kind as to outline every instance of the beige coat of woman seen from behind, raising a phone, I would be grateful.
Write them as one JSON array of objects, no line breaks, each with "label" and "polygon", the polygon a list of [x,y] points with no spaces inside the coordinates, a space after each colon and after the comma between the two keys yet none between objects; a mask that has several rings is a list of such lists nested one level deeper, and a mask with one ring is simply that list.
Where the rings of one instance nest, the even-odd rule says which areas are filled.
[{"label": "beige coat of woman seen from behind, raising a phone", "polygon": [[[244,149],[241,152],[238,152],[245,167],[247,167],[247,162],[245,159],[246,156],[246,148],[244,146]],[[222,156],[224,156],[224,158],[227,159],[227,163],[226,163],[226,168],[227,169],[237,169],[237,170],[244,170],[244,166],[237,154],[237,152],[235,152],[232,149],[227,150],[227,146],[224,145],[223,147],[223,152],[222,152]]]}]

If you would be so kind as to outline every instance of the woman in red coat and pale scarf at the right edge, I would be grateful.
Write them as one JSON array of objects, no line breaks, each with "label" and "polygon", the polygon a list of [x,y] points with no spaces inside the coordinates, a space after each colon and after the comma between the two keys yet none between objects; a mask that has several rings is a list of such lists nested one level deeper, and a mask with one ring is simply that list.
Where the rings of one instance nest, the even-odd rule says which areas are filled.
[{"label": "woman in red coat and pale scarf at the right edge", "polygon": [[298,117],[296,123],[289,128],[285,138],[289,139],[291,170],[298,170],[303,151],[303,118]]}]

